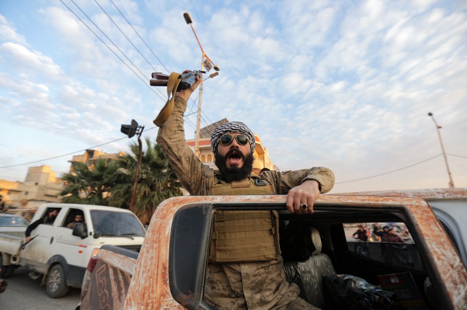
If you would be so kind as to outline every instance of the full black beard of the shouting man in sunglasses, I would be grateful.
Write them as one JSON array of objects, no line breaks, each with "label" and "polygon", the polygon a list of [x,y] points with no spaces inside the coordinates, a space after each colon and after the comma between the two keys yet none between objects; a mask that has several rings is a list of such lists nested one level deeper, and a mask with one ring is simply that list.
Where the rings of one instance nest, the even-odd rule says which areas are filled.
[{"label": "full black beard of the shouting man in sunglasses", "polygon": [[[238,167],[233,167],[233,168],[228,168],[227,167],[227,158],[233,153],[237,152],[241,157],[243,161],[243,165],[238,168]],[[220,155],[219,153],[215,153],[215,164],[217,168],[219,168],[220,173],[222,174],[222,180],[226,182],[232,182],[232,181],[239,181],[242,179],[246,179],[250,176],[251,171],[253,171],[253,153],[249,153],[248,155],[244,155],[238,148],[233,148],[227,152],[224,156]]]}]

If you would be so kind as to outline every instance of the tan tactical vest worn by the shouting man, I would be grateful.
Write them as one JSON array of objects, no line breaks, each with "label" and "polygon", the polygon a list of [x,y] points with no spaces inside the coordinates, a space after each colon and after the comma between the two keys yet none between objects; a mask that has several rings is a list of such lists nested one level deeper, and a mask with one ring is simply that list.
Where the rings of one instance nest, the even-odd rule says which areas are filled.
[{"label": "tan tactical vest worn by the shouting man", "polygon": [[[212,195],[271,195],[273,187],[252,175],[224,182],[213,177]],[[279,215],[276,211],[216,211],[211,234],[210,262],[277,260]]]}]

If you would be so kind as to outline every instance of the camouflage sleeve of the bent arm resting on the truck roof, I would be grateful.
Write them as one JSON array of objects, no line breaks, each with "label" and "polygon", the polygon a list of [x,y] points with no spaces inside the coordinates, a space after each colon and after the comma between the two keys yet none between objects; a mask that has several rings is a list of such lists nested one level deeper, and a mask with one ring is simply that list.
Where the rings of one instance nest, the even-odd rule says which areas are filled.
[{"label": "camouflage sleeve of the bent arm resting on the truck roof", "polygon": [[277,194],[286,195],[288,191],[298,186],[306,180],[316,180],[320,185],[320,193],[329,192],[334,186],[334,173],[324,167],[313,167],[296,171],[265,171],[261,175],[264,179],[269,179],[276,187]]}]

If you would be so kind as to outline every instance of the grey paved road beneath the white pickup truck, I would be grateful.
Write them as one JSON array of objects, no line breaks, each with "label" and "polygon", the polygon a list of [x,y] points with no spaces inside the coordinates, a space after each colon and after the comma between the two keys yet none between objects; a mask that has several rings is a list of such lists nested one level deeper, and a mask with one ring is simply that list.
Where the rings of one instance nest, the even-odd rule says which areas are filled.
[{"label": "grey paved road beneath the white pickup truck", "polygon": [[30,279],[21,268],[6,280],[8,287],[0,294],[1,310],[73,310],[79,302],[80,289],[70,288],[64,297],[50,298],[45,286],[40,286],[40,278]]}]

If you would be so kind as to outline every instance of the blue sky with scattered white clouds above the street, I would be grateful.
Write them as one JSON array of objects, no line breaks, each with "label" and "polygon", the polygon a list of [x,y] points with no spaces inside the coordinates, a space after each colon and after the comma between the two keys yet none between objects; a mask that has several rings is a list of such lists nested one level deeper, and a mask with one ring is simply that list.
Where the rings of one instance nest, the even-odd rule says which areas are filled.
[{"label": "blue sky with scattered white clouds above the street", "polygon": [[[148,86],[151,72],[200,68],[189,12],[221,69],[204,83],[202,126],[245,122],[282,171],[331,168],[331,193],[443,188],[432,112],[467,187],[465,1],[62,1],[0,3],[0,179],[68,172],[72,155],[123,138],[131,119],[154,141],[165,89]],[[186,119],[191,139],[196,114]]]}]

